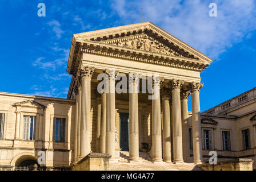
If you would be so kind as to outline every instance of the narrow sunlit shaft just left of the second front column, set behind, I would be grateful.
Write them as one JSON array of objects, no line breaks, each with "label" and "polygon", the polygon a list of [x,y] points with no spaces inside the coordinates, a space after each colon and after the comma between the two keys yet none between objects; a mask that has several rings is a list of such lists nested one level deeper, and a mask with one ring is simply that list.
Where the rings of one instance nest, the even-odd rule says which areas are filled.
[{"label": "narrow sunlit shaft just left of the second front column, set behind", "polygon": [[101,94],[101,153],[106,152],[106,93]]}]

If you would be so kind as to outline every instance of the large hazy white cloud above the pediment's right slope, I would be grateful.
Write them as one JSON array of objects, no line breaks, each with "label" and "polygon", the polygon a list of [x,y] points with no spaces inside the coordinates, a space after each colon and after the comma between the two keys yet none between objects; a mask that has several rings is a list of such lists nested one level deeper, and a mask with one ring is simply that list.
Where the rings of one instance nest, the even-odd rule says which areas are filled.
[{"label": "large hazy white cloud above the pediment's right slope", "polygon": [[[213,59],[256,30],[254,0],[214,1],[217,17],[209,16],[211,1],[114,1],[111,7],[124,24],[141,22],[141,7],[147,20]],[[120,23],[119,22],[119,23]]]}]

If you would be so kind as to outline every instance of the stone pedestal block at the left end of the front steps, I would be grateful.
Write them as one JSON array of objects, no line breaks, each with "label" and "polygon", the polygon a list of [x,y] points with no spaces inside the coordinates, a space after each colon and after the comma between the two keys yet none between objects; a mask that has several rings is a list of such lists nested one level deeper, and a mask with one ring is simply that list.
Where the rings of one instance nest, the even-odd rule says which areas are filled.
[{"label": "stone pedestal block at the left end of the front steps", "polygon": [[109,154],[90,153],[71,167],[72,171],[108,171]]}]

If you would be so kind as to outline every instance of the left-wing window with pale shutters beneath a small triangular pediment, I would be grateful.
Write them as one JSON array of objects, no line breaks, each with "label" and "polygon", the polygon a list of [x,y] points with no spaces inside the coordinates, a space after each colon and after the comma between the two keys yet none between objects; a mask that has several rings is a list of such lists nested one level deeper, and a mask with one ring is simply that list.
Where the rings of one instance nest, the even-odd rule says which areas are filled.
[{"label": "left-wing window with pale shutters beneath a small triangular pediment", "polygon": [[23,120],[23,140],[35,140],[37,117],[25,115]]}]

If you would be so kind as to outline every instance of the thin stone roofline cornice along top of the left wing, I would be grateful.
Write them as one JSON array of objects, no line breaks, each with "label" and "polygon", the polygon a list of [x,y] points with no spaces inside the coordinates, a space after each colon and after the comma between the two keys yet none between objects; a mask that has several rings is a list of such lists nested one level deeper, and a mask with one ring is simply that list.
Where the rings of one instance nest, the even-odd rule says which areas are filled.
[{"label": "thin stone roofline cornice along top of the left wing", "polygon": [[29,95],[29,94],[19,94],[19,93],[9,93],[9,92],[0,92],[0,96],[34,98],[34,99],[42,99],[42,100],[55,100],[55,101],[61,101],[61,102],[74,102],[75,103],[74,100],[67,100],[65,98],[33,96],[33,95]]}]

